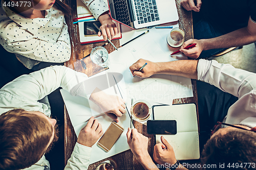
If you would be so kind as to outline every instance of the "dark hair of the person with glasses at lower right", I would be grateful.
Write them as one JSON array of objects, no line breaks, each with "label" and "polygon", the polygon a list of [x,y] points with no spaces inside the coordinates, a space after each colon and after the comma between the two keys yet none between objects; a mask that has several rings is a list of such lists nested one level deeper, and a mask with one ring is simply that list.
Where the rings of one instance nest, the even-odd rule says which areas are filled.
[{"label": "dark hair of the person with glasses at lower right", "polygon": [[253,166],[248,168],[249,164],[245,167],[245,163],[256,163],[256,133],[229,129],[225,134],[212,136],[204,145],[201,161],[202,164],[216,164],[217,167],[224,163],[224,169],[232,169],[227,165],[233,163],[244,163],[243,168],[235,166],[234,169],[255,169]]}]

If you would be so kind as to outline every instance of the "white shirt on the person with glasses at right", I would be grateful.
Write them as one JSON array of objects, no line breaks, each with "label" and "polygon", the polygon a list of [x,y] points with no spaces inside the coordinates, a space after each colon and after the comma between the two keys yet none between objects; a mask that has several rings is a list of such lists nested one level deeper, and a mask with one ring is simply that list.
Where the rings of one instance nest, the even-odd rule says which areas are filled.
[{"label": "white shirt on the person with glasses at right", "polygon": [[226,123],[256,127],[256,74],[204,59],[199,60],[197,71],[198,80],[239,98],[228,109]]}]

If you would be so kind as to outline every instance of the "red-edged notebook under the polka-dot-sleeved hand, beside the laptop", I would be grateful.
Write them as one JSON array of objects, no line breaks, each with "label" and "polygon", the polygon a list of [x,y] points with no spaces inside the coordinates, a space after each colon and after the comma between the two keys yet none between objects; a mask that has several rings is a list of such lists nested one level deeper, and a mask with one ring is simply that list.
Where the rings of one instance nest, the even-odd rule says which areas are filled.
[{"label": "red-edged notebook under the polka-dot-sleeved hand, beside the laptop", "polygon": [[[105,1],[106,4],[108,4],[108,1],[106,1],[106,0],[104,0],[104,1]],[[84,5],[82,3],[81,0],[76,0],[76,3],[77,3],[77,17],[84,17],[84,16],[92,15],[90,10],[87,8],[86,5]],[[78,21],[79,20],[84,20],[84,19],[93,19],[92,21],[89,21],[89,22],[96,21],[93,16],[87,17],[87,18],[81,18],[81,19],[78,19]],[[118,31],[118,34],[114,36],[113,40],[122,38],[121,29],[120,29],[120,23],[116,22],[114,20],[112,20],[112,21],[116,24],[117,31]],[[98,37],[97,34],[84,35],[84,22],[78,22],[78,29],[79,29],[79,37],[80,37],[81,44],[88,44],[88,43],[104,41],[103,37],[102,36]]]}]

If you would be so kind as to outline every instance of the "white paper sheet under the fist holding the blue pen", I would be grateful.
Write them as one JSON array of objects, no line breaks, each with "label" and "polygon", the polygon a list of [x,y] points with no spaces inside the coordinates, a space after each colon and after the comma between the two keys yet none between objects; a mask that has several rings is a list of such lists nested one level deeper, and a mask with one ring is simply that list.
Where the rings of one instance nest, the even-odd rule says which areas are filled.
[{"label": "white paper sheet under the fist holding the blue pen", "polygon": [[[177,48],[170,47],[166,42],[166,35],[169,31],[169,29],[153,28],[149,33],[109,54],[111,64],[107,71],[119,72],[123,75],[127,97],[164,104],[173,99],[193,96],[190,79],[171,75],[139,78],[133,77],[129,69],[140,58],[153,62],[174,61],[177,58],[183,58],[183,54],[170,57],[170,54],[177,51]],[[169,102],[167,103],[169,104]]]}]

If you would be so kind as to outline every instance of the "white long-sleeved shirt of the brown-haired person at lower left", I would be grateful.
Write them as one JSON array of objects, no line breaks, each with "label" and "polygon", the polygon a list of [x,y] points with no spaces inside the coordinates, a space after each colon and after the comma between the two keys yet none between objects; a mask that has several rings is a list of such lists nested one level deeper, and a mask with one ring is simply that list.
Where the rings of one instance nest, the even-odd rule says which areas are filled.
[{"label": "white long-sleeved shirt of the brown-haired person at lower left", "polygon": [[[74,87],[87,79],[87,75],[65,66],[51,66],[32,72],[30,75],[20,76],[0,89],[0,114],[22,108],[27,111],[40,111],[50,116],[48,104],[38,100],[43,99],[58,87],[76,95],[77,91]],[[92,148],[76,143],[65,169],[87,169],[91,151]],[[50,167],[45,156],[42,156],[37,163],[26,169],[42,170],[45,166]]]}]

